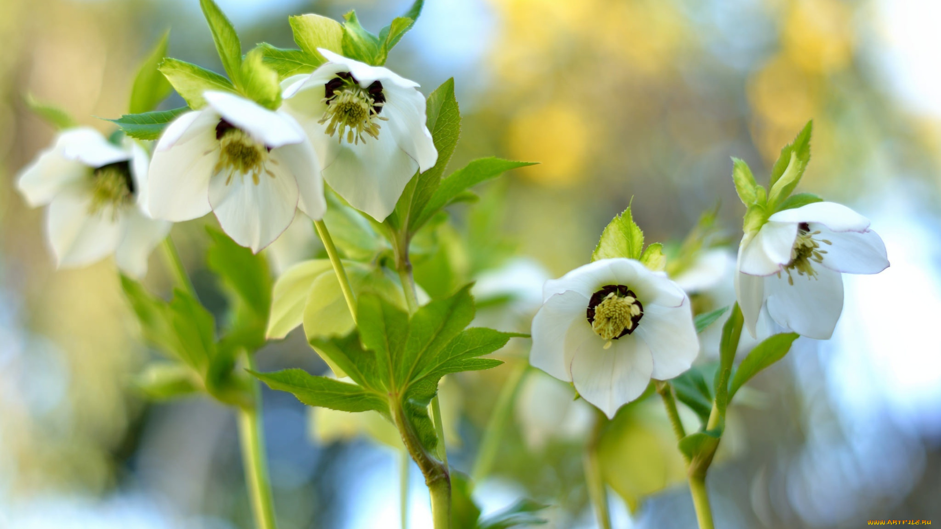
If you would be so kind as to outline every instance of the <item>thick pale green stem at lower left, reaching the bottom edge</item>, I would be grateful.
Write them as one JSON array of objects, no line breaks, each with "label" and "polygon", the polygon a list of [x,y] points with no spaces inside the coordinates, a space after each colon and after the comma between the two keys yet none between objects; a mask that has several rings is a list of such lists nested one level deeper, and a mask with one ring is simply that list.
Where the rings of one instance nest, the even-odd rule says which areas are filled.
[{"label": "thick pale green stem at lower left, reaching the bottom edge", "polygon": [[[253,356],[247,354],[248,368],[255,369]],[[277,529],[275,506],[268,480],[268,466],[264,458],[264,432],[262,425],[262,392],[258,380],[251,379],[252,404],[238,409],[239,438],[242,444],[242,462],[248,492],[251,497],[255,526],[258,529]]]}]

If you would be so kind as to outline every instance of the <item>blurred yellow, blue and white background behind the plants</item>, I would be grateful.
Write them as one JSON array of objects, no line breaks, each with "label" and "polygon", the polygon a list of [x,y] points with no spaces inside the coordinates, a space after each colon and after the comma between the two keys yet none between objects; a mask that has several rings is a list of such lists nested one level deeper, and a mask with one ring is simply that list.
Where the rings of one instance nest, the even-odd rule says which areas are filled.
[{"label": "blurred yellow, blue and white background behind the plants", "polygon": [[[377,32],[410,4],[217,1],[246,46],[282,47],[294,47],[288,15],[357,8]],[[170,56],[221,72],[199,3],[3,0],[2,10],[0,527],[251,527],[231,409],[199,398],[152,404],[131,388],[153,355],[114,264],[56,272],[42,211],[13,187],[55,134],[26,109],[25,92],[110,132],[96,117],[125,111],[138,61],[167,28]],[[425,93],[455,77],[463,132],[452,168],[491,154],[541,162],[455,211],[455,232],[481,243],[458,259],[463,275],[480,280],[478,297],[504,301],[480,317],[506,329],[528,328],[541,282],[586,263],[631,198],[648,241],[681,240],[718,202],[717,226],[734,245],[744,208],[729,156],[764,182],[813,119],[802,188],[869,216],[892,266],[846,277],[834,339],[802,338],[733,409],[710,473],[717,526],[941,522],[939,23],[941,4],[930,0],[427,0],[389,66]],[[212,302],[203,223],[173,236]],[[295,236],[291,248],[307,248],[310,233]],[[423,280],[438,269],[435,257],[417,264],[432,295],[447,289]],[[690,288],[728,304],[731,277],[716,281]],[[156,258],[148,284],[169,284]],[[475,500],[485,512],[530,497],[551,505],[550,527],[594,527],[582,473],[593,410],[565,384],[524,371],[528,342],[517,342],[501,353],[504,366],[442,388],[452,464],[484,480]],[[302,332],[259,362],[326,370]],[[475,469],[498,395],[520,377],[493,464]],[[264,399],[282,528],[398,527],[401,455],[383,425],[311,420],[287,393]],[[658,405],[624,409],[600,446],[619,528],[694,527]],[[414,468],[409,511],[412,527],[430,526]]]}]

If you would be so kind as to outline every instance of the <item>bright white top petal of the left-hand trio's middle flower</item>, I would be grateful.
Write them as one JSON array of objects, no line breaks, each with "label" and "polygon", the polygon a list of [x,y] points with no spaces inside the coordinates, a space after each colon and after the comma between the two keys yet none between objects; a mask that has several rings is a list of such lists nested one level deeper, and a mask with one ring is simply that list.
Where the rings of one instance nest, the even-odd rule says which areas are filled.
[{"label": "bright white top petal of the left-hand trio's middle flower", "polygon": [[222,119],[247,132],[267,147],[274,149],[304,141],[304,132],[287,114],[268,110],[254,101],[229,92],[209,90],[204,92],[202,97]]}]

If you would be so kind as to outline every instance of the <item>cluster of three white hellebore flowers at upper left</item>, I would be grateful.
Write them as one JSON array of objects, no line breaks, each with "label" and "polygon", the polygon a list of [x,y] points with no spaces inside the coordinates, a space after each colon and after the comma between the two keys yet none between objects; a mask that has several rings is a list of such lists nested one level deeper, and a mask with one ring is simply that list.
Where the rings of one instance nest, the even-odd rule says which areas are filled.
[{"label": "cluster of three white hellebore flowers at upper left", "polygon": [[438,160],[423,95],[386,68],[319,51],[327,62],[286,79],[277,111],[204,92],[206,106],[167,126],[150,163],[129,138],[119,146],[86,127],[60,133],[18,180],[30,205],[49,204],[57,264],[113,254],[124,273],[141,277],[170,222],[209,212],[258,252],[297,209],[324,216],[324,178],[376,220],[389,216],[416,170]]}]

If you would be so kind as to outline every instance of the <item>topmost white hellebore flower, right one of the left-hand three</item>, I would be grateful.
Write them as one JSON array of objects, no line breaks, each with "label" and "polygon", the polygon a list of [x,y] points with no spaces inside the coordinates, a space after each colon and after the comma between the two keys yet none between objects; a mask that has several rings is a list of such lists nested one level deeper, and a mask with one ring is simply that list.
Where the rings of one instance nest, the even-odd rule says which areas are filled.
[{"label": "topmost white hellebore flower, right one of the left-hand three", "polygon": [[344,200],[382,221],[416,170],[438,161],[418,83],[318,49],[327,62],[282,83],[297,118]]}]

